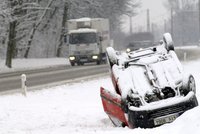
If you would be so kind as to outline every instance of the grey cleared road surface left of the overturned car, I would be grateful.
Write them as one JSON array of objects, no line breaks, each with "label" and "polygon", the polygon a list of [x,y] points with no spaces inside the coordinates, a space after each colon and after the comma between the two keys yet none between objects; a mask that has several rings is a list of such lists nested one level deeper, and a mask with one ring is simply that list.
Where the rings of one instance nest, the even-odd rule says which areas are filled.
[{"label": "grey cleared road surface left of the overturned car", "polygon": [[[0,73],[0,92],[21,88],[21,74],[27,76],[27,86],[30,89],[61,85],[74,79],[108,73],[107,65],[87,66],[56,66],[34,70]],[[60,84],[61,83],[61,84]]]}]

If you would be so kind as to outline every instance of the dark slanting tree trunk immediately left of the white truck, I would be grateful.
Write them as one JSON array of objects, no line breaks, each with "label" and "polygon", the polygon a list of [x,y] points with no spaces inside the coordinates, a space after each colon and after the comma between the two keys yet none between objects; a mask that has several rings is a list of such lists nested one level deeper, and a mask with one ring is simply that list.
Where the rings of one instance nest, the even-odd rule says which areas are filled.
[{"label": "dark slanting tree trunk immediately left of the white truck", "polygon": [[57,52],[56,52],[57,57],[61,56],[61,49],[63,46],[63,37],[64,37],[64,32],[65,32],[65,24],[67,21],[67,15],[68,15],[68,3],[65,2],[64,11],[63,11],[63,19],[62,19],[62,29],[61,29],[59,44],[58,44],[58,48],[57,48]]}]

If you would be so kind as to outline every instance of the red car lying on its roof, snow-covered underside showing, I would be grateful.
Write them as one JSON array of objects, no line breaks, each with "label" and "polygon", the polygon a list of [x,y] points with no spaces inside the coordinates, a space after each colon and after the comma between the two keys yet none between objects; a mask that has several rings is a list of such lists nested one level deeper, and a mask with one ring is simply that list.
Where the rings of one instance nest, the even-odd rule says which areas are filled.
[{"label": "red car lying on its roof, snow-covered underside showing", "polygon": [[123,53],[107,48],[114,90],[100,89],[115,126],[151,128],[198,105],[194,77],[183,71],[169,33],[163,44]]}]

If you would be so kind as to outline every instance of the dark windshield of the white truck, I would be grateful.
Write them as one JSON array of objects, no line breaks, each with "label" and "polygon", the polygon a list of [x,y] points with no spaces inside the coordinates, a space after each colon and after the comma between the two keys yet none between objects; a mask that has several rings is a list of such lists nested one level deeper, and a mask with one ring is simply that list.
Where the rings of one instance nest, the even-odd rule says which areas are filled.
[{"label": "dark windshield of the white truck", "polygon": [[72,33],[69,36],[70,44],[95,43],[97,42],[96,33]]}]

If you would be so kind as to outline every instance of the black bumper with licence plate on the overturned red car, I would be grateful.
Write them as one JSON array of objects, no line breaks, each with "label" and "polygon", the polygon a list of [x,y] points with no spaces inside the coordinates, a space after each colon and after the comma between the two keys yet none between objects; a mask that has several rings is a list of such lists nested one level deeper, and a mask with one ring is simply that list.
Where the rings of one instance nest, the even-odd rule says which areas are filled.
[{"label": "black bumper with licence plate on the overturned red car", "polygon": [[187,96],[177,99],[171,98],[170,103],[164,105],[154,105],[152,107],[133,108],[128,110],[128,122],[132,128],[152,128],[165,123],[172,122],[176,117],[185,111],[198,105],[195,94],[189,93]]}]

